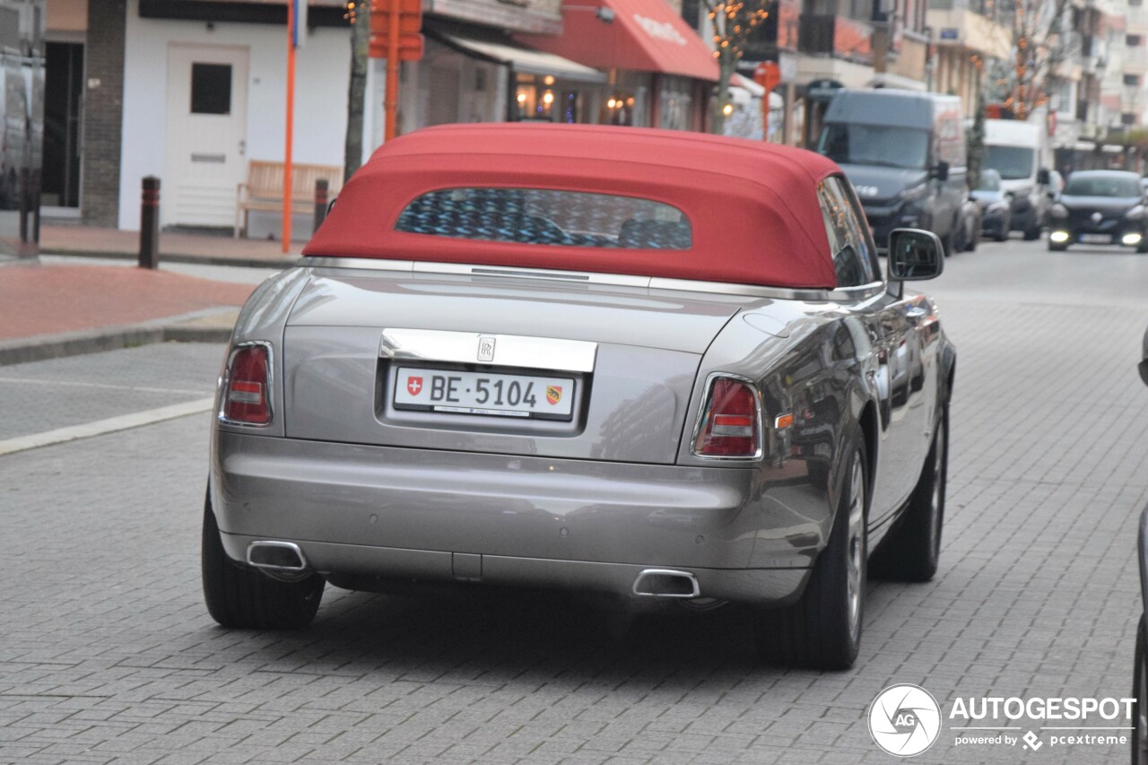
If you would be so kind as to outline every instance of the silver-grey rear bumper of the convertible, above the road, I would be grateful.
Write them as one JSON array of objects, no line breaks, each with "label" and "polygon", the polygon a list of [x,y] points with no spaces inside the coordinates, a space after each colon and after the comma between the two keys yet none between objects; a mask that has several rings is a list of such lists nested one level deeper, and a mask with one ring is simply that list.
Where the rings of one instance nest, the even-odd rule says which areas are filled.
[{"label": "silver-grey rear bumper of the convertible, above the road", "polygon": [[784,604],[831,526],[823,490],[758,469],[402,449],[218,432],[212,507],[230,557],[298,544],[344,578],[630,594],[645,569],[701,597]]}]

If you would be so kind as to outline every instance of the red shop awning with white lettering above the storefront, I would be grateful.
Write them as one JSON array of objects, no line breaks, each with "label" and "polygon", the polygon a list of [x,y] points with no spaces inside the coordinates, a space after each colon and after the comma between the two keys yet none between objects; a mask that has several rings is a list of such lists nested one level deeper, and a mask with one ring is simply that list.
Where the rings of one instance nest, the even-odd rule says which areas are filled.
[{"label": "red shop awning with white lettering above the storefront", "polygon": [[[611,11],[613,21],[603,21]],[[560,37],[515,37],[533,48],[595,69],[657,71],[718,82],[713,52],[665,0],[571,1],[563,7]]]}]

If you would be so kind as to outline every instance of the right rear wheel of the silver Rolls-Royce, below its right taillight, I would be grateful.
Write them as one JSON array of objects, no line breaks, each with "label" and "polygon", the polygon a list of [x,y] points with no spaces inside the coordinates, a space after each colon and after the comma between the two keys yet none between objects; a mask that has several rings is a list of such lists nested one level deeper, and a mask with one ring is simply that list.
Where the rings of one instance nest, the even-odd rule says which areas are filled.
[{"label": "right rear wheel of the silver Rolls-Royce, below its right taillight", "polygon": [[860,435],[847,471],[829,544],[817,556],[801,600],[759,617],[758,651],[768,663],[848,670],[856,660],[869,552],[868,462]]}]

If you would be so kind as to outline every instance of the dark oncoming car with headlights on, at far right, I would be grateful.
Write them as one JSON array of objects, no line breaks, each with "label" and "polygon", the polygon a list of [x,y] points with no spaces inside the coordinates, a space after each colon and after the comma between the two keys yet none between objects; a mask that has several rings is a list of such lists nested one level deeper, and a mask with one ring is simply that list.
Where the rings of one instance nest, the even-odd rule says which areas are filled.
[{"label": "dark oncoming car with headlights on, at far right", "polygon": [[1069,176],[1048,210],[1048,249],[1064,250],[1076,242],[1148,253],[1148,209],[1137,173],[1081,170]]}]

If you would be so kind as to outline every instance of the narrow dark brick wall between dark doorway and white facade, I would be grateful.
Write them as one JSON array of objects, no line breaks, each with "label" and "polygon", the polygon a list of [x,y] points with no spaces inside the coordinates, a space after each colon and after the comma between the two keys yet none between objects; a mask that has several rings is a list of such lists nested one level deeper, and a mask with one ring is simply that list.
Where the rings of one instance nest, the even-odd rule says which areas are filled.
[{"label": "narrow dark brick wall between dark doorway and white facade", "polygon": [[124,119],[126,0],[87,0],[84,223],[116,227]]}]

